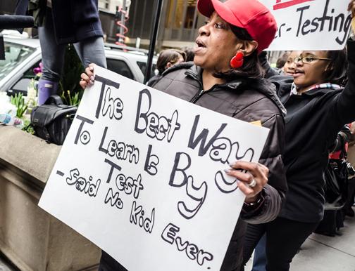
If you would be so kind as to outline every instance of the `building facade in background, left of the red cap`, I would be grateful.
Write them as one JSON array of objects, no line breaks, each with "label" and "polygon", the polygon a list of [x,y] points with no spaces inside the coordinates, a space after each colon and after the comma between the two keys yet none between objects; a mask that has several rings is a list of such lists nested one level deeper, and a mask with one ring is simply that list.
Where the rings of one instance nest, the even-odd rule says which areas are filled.
[{"label": "building facade in background, left of the red cap", "polygon": [[[125,36],[129,38],[130,45],[134,45],[137,38],[139,38],[141,45],[147,47],[154,23],[157,1],[131,0],[126,1],[126,3],[130,5],[128,6],[127,4],[129,18],[126,22],[128,32]],[[113,13],[116,11],[116,8],[110,0],[99,1],[99,6],[104,32],[108,36],[108,41],[112,41],[115,39],[117,31],[115,23],[112,22]],[[108,22],[109,20],[111,22]],[[197,0],[163,1],[157,40],[158,49],[193,46],[198,29],[203,25],[204,20],[204,16],[197,12]]]}]

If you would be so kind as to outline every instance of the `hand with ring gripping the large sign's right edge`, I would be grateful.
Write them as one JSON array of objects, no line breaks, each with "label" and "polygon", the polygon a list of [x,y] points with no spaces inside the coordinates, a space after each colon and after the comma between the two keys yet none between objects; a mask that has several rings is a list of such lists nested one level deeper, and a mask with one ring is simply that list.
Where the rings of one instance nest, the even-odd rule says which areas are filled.
[{"label": "hand with ring gripping the large sign's right edge", "polygon": [[[263,187],[268,183],[268,168],[262,164],[248,161],[235,161],[230,164],[230,167],[225,172],[237,179],[239,189],[247,196],[245,203],[255,202]],[[247,171],[247,173],[240,171],[240,169]]]}]

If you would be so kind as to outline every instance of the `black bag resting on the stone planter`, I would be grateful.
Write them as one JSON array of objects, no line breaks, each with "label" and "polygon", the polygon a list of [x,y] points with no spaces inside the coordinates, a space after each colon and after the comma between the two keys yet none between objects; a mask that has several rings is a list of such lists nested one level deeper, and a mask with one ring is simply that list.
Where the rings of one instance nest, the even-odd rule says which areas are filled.
[{"label": "black bag resting on the stone planter", "polygon": [[63,105],[61,97],[51,95],[44,105],[33,108],[31,124],[39,138],[63,145],[76,112],[76,106]]}]

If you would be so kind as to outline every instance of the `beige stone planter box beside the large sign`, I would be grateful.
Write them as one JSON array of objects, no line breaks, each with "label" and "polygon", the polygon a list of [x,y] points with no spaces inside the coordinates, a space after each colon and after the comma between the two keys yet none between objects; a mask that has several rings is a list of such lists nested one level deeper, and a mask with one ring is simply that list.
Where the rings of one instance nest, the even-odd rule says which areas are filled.
[{"label": "beige stone planter box beside the large sign", "polygon": [[20,270],[96,270],[100,249],[37,204],[61,147],[0,126],[0,251]]}]

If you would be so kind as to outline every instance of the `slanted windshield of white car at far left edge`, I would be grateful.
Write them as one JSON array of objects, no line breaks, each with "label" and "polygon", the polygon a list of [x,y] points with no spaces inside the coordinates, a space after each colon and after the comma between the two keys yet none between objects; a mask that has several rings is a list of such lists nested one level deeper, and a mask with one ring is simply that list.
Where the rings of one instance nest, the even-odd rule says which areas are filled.
[{"label": "slanted windshield of white car at far left edge", "polygon": [[5,41],[5,60],[0,60],[0,80],[28,58],[35,48]]}]

